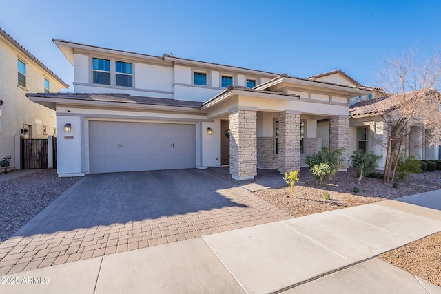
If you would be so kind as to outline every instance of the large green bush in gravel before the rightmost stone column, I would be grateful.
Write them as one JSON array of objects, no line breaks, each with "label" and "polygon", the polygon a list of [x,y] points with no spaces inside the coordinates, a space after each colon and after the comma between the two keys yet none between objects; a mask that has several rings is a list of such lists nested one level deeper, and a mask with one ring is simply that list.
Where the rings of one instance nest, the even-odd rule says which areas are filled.
[{"label": "large green bush in gravel before the rightmost stone column", "polygon": [[322,147],[318,153],[306,156],[305,162],[320,185],[331,180],[337,170],[343,167],[341,158],[343,152],[345,152],[344,148]]}]

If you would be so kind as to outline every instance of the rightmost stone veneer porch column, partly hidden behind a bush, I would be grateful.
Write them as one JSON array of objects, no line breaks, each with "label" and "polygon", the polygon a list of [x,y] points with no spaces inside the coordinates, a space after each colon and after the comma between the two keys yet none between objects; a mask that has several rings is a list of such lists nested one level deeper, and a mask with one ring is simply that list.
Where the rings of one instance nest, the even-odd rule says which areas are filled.
[{"label": "rightmost stone veneer porch column, partly hidden behind a bush", "polygon": [[343,165],[349,167],[349,118],[350,116],[334,116],[329,119],[329,146],[345,148]]}]

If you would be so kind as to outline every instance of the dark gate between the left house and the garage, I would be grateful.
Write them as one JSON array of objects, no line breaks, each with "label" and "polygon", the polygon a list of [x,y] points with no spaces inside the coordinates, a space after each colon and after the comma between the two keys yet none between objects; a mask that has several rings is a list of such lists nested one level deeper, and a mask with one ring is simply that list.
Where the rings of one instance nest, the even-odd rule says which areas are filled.
[{"label": "dark gate between the left house and the garage", "polygon": [[48,139],[21,139],[21,169],[48,168]]}]

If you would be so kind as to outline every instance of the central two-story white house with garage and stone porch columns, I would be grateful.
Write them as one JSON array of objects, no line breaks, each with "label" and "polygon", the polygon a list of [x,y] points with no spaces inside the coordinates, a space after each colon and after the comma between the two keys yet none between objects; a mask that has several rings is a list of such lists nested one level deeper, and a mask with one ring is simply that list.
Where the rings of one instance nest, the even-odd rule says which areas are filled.
[{"label": "central two-story white house with garage and stone porch columns", "polygon": [[349,100],[373,92],[341,71],[296,78],[54,43],[74,65],[75,93],[28,97],[57,111],[59,176],[229,165],[245,180],[300,169],[324,145],[349,150]]}]

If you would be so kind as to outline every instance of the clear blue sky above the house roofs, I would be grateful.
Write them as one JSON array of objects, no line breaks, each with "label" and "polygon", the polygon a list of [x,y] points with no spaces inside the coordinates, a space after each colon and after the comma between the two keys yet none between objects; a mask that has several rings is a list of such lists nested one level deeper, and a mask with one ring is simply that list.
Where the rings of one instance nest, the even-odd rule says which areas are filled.
[{"label": "clear blue sky above the house roofs", "polygon": [[340,68],[374,84],[381,61],[441,47],[441,1],[0,0],[0,27],[71,85],[52,38],[308,77]]}]

